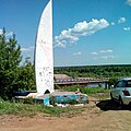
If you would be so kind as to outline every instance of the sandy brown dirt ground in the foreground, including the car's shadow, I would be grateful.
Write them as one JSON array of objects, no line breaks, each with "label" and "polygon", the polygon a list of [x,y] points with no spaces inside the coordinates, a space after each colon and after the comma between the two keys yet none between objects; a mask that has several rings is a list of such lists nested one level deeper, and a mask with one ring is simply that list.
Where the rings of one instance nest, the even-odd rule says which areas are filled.
[{"label": "sandy brown dirt ground in the foreground, including the car's shadow", "polygon": [[131,131],[130,107],[90,98],[86,108],[73,117],[0,116],[0,131]]}]

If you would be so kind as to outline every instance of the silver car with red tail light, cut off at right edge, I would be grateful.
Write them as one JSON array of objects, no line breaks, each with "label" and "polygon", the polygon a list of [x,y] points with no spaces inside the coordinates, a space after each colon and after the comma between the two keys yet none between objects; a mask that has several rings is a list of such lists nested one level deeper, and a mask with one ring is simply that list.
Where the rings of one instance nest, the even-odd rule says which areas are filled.
[{"label": "silver car with red tail light, cut off at right edge", "polygon": [[110,98],[121,107],[131,105],[131,78],[119,80],[110,90]]}]

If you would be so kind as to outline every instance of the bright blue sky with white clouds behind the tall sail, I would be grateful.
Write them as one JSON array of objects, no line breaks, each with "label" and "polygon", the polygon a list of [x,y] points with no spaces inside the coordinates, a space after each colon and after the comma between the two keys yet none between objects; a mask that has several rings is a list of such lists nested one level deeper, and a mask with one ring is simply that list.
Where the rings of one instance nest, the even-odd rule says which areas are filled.
[{"label": "bright blue sky with white clouds behind the tall sail", "polygon": [[[0,0],[0,28],[16,34],[23,58],[32,61],[47,2]],[[55,66],[130,64],[130,53],[131,0],[53,0]]]}]

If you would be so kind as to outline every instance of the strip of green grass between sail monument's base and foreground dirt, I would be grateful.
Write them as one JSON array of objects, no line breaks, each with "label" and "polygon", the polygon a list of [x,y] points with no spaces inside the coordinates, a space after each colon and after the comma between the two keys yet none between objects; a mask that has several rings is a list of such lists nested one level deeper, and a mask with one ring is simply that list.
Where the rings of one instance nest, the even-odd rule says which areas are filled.
[{"label": "strip of green grass between sail monument's base and foreground dirt", "polygon": [[34,116],[36,114],[49,115],[60,117],[63,114],[72,111],[80,111],[82,108],[60,108],[60,107],[48,107],[44,105],[29,105],[22,103],[10,103],[0,100],[0,115],[20,115],[20,116]]}]

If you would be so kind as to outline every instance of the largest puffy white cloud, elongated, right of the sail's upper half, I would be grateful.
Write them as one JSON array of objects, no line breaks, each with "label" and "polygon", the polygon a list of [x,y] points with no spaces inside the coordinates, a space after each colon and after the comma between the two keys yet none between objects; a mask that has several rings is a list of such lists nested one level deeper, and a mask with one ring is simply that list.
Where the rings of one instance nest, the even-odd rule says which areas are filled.
[{"label": "largest puffy white cloud, elongated, right of the sail's upper half", "polygon": [[58,47],[66,47],[67,44],[75,44],[82,36],[92,35],[108,26],[109,23],[105,19],[93,19],[88,23],[86,21],[83,21],[76,23],[73,28],[63,29],[60,35],[55,37],[55,44]]}]

